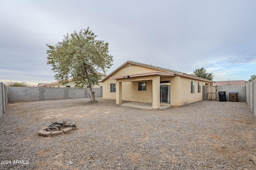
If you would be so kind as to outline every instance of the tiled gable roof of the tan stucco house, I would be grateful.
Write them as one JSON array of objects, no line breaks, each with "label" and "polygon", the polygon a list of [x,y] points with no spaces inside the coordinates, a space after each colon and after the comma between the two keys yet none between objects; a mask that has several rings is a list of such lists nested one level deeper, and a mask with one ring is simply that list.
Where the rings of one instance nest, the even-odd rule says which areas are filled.
[{"label": "tiled gable roof of the tan stucco house", "polygon": [[176,75],[179,76],[184,76],[184,77],[188,77],[188,78],[193,78],[196,80],[202,80],[202,81],[206,81],[206,82],[210,82],[210,83],[214,83],[214,81],[212,80],[208,80],[205,78],[201,78],[201,77],[197,77],[197,76],[192,76],[190,74],[185,74],[184,72],[179,72],[179,71],[175,71],[175,70],[170,70],[168,68],[162,68],[162,67],[158,67],[158,66],[153,66],[150,64],[143,64],[143,63],[138,63],[138,62],[134,62],[134,61],[126,61],[124,64],[122,64],[121,66],[119,66],[118,68],[116,68],[116,70],[114,70],[113,72],[111,72],[110,74],[108,74],[108,76],[106,76],[104,79],[101,80],[101,82],[103,82],[106,78],[110,77],[114,72],[116,72],[117,70],[119,70],[120,68],[122,68],[125,64],[130,63],[130,64],[135,64],[135,65],[139,65],[139,66],[145,66],[145,67],[149,67],[149,68],[154,68],[156,70],[160,70],[160,71],[164,71],[164,72],[171,72],[174,73]]}]

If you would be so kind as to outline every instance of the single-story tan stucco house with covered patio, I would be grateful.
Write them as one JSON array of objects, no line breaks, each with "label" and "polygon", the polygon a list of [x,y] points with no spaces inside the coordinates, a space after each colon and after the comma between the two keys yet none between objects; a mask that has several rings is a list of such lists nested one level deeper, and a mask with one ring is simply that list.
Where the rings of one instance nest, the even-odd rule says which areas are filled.
[{"label": "single-story tan stucco house with covered patio", "polygon": [[182,106],[202,100],[202,86],[214,82],[183,72],[127,61],[102,81],[105,99]]}]

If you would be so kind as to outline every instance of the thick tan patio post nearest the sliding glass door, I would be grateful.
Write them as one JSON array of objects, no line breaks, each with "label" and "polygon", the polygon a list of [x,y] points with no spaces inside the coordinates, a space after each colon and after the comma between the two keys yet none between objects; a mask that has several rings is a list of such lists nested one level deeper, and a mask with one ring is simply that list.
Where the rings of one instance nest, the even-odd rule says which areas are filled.
[{"label": "thick tan patio post nearest the sliding glass door", "polygon": [[152,108],[160,108],[160,76],[154,76],[152,79]]}]

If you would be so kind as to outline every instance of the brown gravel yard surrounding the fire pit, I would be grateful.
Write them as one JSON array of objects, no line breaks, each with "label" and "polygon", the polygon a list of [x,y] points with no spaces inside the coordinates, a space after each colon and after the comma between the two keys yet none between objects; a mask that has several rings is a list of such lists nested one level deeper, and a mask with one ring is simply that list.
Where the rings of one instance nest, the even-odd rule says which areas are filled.
[{"label": "brown gravel yard surrounding the fire pit", "polygon": [[[256,169],[256,123],[246,102],[146,110],[89,100],[8,104],[0,119],[0,169]],[[54,121],[77,129],[38,135]]]}]

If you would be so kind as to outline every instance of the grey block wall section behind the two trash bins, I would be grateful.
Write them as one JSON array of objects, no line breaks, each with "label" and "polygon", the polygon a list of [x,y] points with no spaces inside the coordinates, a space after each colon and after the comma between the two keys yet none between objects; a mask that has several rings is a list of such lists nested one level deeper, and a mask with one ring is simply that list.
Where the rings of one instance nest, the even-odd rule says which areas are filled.
[{"label": "grey block wall section behind the two trash bins", "polygon": [[238,92],[238,101],[246,102],[246,86],[236,85],[236,86],[217,86],[217,101],[220,101],[219,93],[221,91],[226,91],[226,99],[229,102],[229,92]]}]

